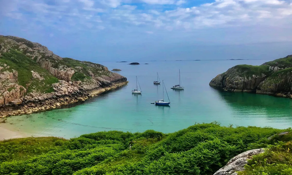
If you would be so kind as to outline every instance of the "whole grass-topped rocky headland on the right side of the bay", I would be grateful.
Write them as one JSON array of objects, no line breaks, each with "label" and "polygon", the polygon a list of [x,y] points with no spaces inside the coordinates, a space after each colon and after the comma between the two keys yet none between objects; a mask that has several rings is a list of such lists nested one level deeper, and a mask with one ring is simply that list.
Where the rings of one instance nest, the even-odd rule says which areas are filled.
[{"label": "whole grass-topped rocky headland on the right side of the bay", "polygon": [[256,92],[292,98],[292,55],[260,66],[237,65],[217,75],[209,85],[234,92]]}]

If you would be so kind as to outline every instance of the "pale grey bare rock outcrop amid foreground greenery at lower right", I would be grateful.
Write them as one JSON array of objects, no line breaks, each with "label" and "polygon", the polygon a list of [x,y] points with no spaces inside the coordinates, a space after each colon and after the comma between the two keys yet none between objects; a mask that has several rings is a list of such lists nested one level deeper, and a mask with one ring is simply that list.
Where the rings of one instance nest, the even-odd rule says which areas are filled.
[{"label": "pale grey bare rock outcrop amid foreground greenery at lower right", "polygon": [[223,168],[219,169],[213,175],[237,175],[237,171],[243,171],[244,166],[248,163],[253,155],[265,152],[263,148],[249,150],[233,157]]}]

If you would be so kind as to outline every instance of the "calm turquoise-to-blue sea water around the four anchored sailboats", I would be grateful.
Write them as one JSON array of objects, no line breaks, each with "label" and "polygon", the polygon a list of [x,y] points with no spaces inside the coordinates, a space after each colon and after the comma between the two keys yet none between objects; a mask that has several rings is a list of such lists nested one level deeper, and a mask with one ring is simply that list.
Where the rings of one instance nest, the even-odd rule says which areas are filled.
[{"label": "calm turquoise-to-blue sea water around the four anchored sailboats", "polygon": [[[218,121],[222,125],[287,128],[292,125],[292,100],[241,92],[225,92],[208,83],[217,74],[237,64],[260,65],[268,60],[101,62],[128,78],[128,85],[97,97],[46,112],[7,118],[5,127],[36,136],[71,138],[81,134],[121,130],[154,129],[175,132],[194,123]],[[149,63],[149,64],[144,64]],[[181,72],[185,90],[172,90]],[[150,104],[162,98],[162,85],[154,85],[156,72],[164,80],[170,107]],[[138,76],[142,95],[134,95]],[[167,99],[167,97],[165,97]]]}]

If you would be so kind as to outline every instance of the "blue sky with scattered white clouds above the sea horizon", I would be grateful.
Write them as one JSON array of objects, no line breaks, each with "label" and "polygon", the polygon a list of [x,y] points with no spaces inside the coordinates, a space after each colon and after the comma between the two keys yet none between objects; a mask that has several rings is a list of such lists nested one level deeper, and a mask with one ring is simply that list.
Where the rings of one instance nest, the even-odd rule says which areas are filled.
[{"label": "blue sky with scattered white clouds above the sea horizon", "polygon": [[0,34],[87,61],[276,59],[292,0],[0,0]]}]

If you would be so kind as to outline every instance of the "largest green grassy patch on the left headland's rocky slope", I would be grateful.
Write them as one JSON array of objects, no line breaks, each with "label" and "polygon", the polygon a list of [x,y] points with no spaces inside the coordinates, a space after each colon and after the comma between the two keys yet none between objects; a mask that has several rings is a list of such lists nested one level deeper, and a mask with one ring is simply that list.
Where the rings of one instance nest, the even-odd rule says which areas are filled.
[{"label": "largest green grassy patch on the left headland's rocky slope", "polygon": [[[51,84],[58,82],[58,78],[52,76],[47,70],[41,68],[34,60],[28,58],[20,51],[10,49],[9,52],[2,53],[0,62],[10,67],[9,69],[2,69],[1,72],[7,70],[12,72],[12,69],[18,71],[19,85],[28,88],[29,91],[53,92]],[[41,81],[33,79],[32,70],[38,72],[45,79]],[[27,87],[27,83],[31,83],[31,85]]]}]

